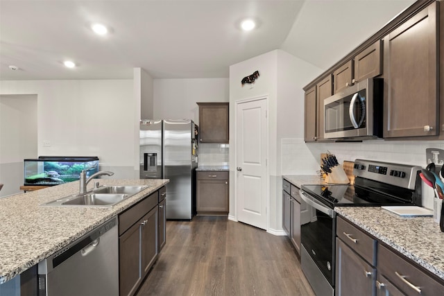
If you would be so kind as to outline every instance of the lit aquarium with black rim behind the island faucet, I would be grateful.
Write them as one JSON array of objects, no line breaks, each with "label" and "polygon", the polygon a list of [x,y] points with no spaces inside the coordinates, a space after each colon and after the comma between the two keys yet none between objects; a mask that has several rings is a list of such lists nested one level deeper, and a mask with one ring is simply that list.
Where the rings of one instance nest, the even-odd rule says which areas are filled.
[{"label": "lit aquarium with black rim behind the island faucet", "polygon": [[96,156],[40,156],[24,159],[24,186],[54,186],[80,180],[80,172],[90,168],[87,176],[99,171]]}]

